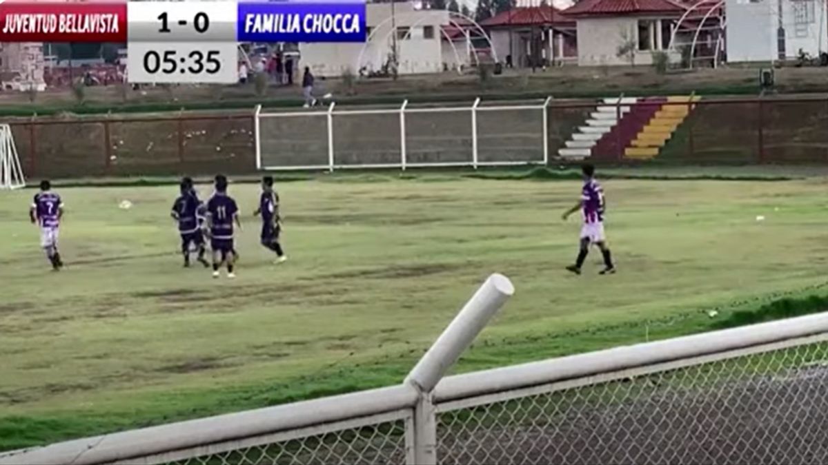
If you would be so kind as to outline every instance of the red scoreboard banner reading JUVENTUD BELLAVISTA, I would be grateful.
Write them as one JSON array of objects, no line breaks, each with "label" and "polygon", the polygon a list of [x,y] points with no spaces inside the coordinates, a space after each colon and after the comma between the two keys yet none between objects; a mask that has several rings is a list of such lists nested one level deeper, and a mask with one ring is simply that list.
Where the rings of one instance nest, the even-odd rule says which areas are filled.
[{"label": "red scoreboard banner reading JUVENTUD BELLAVISTA", "polygon": [[0,42],[126,42],[127,2],[0,0]]}]

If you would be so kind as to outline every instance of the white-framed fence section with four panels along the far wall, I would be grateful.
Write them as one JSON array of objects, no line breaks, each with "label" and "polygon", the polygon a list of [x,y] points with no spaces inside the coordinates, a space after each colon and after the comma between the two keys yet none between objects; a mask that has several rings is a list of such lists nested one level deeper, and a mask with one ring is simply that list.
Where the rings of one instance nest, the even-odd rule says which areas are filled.
[{"label": "white-framed fence section with four panels along the far wall", "polygon": [[337,170],[546,164],[547,108],[539,103],[265,113],[256,108],[259,170]]}]

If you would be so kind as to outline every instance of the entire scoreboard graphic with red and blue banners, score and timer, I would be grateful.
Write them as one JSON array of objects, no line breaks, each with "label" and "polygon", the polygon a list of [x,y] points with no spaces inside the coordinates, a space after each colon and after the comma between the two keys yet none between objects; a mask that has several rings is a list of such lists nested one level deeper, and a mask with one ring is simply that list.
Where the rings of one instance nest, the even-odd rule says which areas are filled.
[{"label": "entire scoreboard graphic with red and blue banners, score and timer", "polygon": [[0,0],[0,42],[126,42],[132,83],[238,81],[238,42],[364,42],[365,0]]}]

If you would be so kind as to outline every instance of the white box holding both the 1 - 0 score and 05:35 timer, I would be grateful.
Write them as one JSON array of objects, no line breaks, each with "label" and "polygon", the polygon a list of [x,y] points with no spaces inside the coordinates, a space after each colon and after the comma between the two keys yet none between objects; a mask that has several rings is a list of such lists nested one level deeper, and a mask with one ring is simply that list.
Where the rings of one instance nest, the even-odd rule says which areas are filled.
[{"label": "white box holding both the 1 - 0 score and 05:35 timer", "polygon": [[132,83],[238,81],[236,2],[128,2]]}]

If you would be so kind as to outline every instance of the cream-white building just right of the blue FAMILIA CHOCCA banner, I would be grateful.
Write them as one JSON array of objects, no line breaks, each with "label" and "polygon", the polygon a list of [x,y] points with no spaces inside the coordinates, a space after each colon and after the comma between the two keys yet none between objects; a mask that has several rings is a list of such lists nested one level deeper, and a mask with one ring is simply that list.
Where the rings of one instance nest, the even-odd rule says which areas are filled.
[{"label": "cream-white building just right of the blue FAMILIA CHOCCA banner", "polygon": [[[465,40],[449,40],[449,12],[419,10],[411,2],[368,3],[367,44],[300,44],[301,67],[309,66],[317,76],[339,76],[345,70],[382,70],[396,42],[399,74],[439,73],[472,61]],[[397,30],[393,31],[396,26]]]}]

